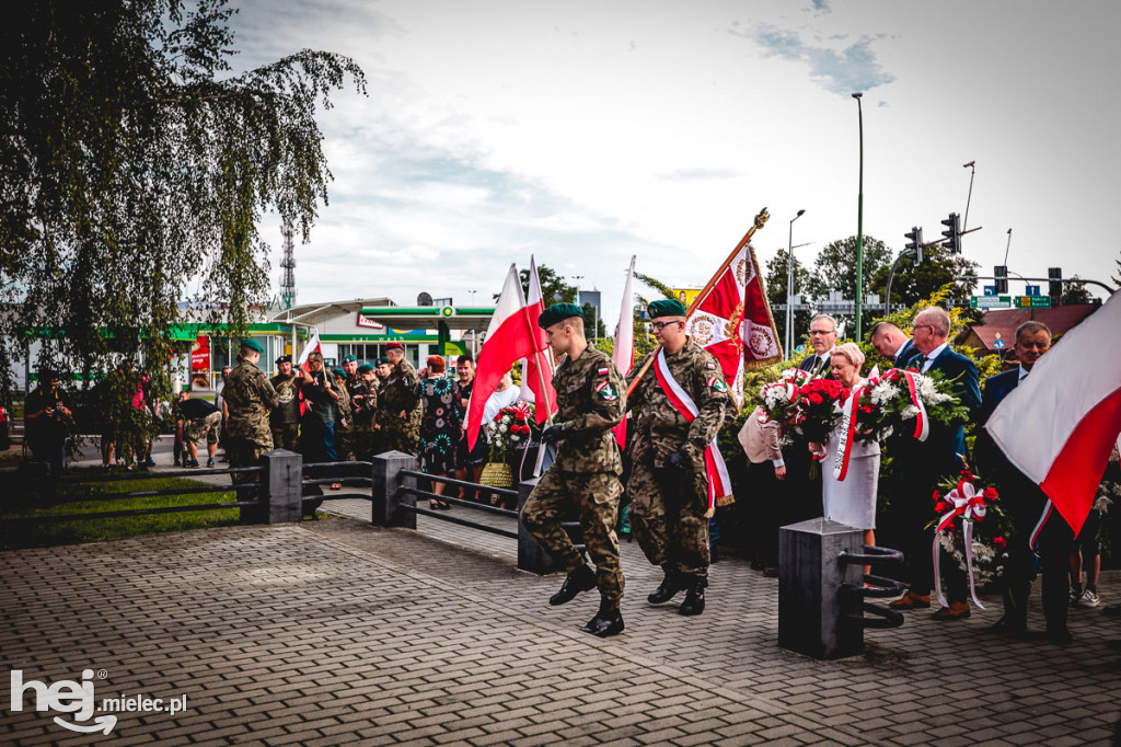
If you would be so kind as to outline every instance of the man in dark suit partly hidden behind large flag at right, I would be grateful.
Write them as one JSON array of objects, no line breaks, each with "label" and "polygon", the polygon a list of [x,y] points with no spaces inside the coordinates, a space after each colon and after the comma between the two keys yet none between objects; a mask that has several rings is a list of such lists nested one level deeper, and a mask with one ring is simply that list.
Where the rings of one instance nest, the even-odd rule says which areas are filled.
[{"label": "man in dark suit partly hidden behind large flag at right", "polygon": [[[980,424],[989,422],[997,406],[1020,385],[1032,366],[1050,348],[1050,330],[1043,322],[1025,322],[1016,330],[1016,359],[1020,365],[985,379]],[[1008,543],[1008,565],[1003,578],[1004,616],[992,626],[998,633],[1023,635],[1028,630],[1028,596],[1035,579],[1031,542],[1037,541],[1044,562],[1043,601],[1047,637],[1056,643],[1071,640],[1066,627],[1069,585],[1067,581],[1074,533],[1057,511],[1043,520],[1047,496],[1030,478],[1016,469],[983,427],[978,432],[974,453],[978,470],[991,476],[1000,490],[1000,506],[1012,522]]]}]

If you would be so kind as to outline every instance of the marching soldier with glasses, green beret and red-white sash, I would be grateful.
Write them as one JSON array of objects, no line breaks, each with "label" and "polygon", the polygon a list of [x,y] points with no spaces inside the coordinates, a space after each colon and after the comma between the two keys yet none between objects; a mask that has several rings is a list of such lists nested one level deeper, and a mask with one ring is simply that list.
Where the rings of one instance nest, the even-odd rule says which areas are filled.
[{"label": "marching soldier with glasses, green beret and red-white sash", "polygon": [[[704,452],[724,422],[730,396],[720,363],[685,334],[685,306],[679,301],[656,301],[647,313],[669,374],[698,412],[692,423],[686,421],[654,370],[647,370],[631,391],[627,406],[640,408],[627,482],[631,526],[647,560],[665,571],[648,601],[660,605],[686,591],[678,611],[700,615],[708,585],[711,516]],[[657,354],[642,359],[630,380]]]}]

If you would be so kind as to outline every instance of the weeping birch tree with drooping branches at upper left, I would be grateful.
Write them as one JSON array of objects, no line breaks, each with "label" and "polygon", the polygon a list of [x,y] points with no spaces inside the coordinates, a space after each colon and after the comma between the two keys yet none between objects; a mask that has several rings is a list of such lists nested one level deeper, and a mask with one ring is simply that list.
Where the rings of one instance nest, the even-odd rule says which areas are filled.
[{"label": "weeping birch tree with drooping branches at upper left", "polygon": [[234,334],[266,301],[261,216],[308,239],[331,178],[316,113],[365,82],[309,49],[233,73],[233,12],[225,0],[8,8],[0,335],[61,328],[40,360],[75,361],[85,380],[149,361],[159,390],[188,282]]}]

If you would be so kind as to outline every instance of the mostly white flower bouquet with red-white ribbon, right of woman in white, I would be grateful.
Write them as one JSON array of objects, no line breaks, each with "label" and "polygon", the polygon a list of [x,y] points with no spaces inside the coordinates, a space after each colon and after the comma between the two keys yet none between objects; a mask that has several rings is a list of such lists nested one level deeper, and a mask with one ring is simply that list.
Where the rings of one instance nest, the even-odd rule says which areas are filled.
[{"label": "mostly white flower bouquet with red-white ribbon, right of woman in white", "polygon": [[862,441],[907,432],[925,441],[932,422],[951,426],[969,419],[969,409],[938,371],[924,375],[893,368],[865,379],[858,396],[856,432]]}]

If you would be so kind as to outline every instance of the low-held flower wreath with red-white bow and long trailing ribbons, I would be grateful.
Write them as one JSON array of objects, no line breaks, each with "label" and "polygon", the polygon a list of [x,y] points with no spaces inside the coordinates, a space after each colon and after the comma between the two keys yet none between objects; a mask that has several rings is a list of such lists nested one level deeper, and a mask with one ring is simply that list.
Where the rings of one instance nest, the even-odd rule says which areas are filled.
[{"label": "low-held flower wreath with red-white bow and long trailing ribbons", "polygon": [[[941,550],[954,559],[970,580],[973,602],[984,609],[976,597],[976,584],[995,581],[1004,573],[1008,562],[1007,522],[995,505],[1000,496],[995,488],[983,488],[967,470],[958,480],[947,480],[934,491],[934,587],[938,601],[946,607],[942,593],[938,565]],[[957,520],[960,519],[960,522]],[[988,520],[985,520],[988,519]]]}]

